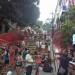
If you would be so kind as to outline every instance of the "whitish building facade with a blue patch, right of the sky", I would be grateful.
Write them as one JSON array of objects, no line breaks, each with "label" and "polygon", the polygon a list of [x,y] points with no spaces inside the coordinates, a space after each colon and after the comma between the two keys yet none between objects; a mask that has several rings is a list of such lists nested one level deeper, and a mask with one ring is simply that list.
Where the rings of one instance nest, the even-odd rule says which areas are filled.
[{"label": "whitish building facade with a blue patch, right of the sky", "polygon": [[60,27],[59,21],[61,15],[68,11],[69,3],[69,0],[58,0],[54,16],[54,25],[56,28]]}]

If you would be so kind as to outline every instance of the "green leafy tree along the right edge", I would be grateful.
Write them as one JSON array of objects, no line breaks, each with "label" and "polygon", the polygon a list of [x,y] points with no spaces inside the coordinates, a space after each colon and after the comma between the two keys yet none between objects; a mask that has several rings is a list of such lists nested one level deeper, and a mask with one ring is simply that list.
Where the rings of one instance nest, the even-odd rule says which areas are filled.
[{"label": "green leafy tree along the right edge", "polygon": [[67,12],[63,13],[60,21],[63,47],[67,48],[72,43],[72,35],[75,33],[75,6],[70,7]]}]

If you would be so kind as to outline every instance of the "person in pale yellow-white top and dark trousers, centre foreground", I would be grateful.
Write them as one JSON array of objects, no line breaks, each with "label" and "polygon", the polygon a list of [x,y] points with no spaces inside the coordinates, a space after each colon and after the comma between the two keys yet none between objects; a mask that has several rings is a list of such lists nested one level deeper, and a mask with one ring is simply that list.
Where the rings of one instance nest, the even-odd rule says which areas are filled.
[{"label": "person in pale yellow-white top and dark trousers, centre foreground", "polygon": [[32,58],[30,51],[28,51],[25,60],[26,60],[26,75],[31,75],[32,74],[33,58]]}]

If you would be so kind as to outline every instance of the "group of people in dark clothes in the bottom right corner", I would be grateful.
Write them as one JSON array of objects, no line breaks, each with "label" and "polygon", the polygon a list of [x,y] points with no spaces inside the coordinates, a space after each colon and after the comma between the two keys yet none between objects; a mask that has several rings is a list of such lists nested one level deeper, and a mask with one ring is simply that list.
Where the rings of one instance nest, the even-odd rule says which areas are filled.
[{"label": "group of people in dark clothes in the bottom right corner", "polygon": [[63,50],[59,59],[59,68],[57,75],[69,75],[69,62],[75,62],[75,51],[74,49]]}]

